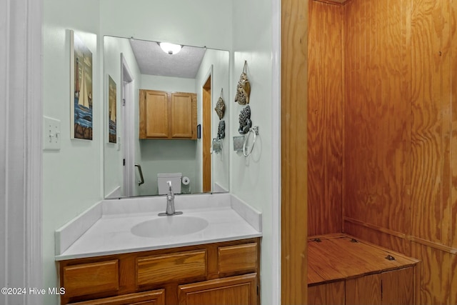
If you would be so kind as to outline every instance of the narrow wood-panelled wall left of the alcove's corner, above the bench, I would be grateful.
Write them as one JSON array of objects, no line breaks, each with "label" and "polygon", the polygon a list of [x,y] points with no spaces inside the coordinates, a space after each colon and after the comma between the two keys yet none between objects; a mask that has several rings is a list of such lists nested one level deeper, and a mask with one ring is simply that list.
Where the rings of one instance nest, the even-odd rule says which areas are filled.
[{"label": "narrow wood-panelled wall left of the alcove's corner, above the bench", "polygon": [[308,236],[341,232],[342,6],[309,2]]}]

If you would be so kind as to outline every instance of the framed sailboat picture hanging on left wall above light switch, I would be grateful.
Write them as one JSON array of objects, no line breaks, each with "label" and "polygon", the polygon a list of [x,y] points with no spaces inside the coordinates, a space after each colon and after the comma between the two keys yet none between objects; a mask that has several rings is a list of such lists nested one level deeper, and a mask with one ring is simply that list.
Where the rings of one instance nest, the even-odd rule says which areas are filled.
[{"label": "framed sailboat picture hanging on left wall above light switch", "polygon": [[92,52],[70,31],[71,139],[92,139]]}]

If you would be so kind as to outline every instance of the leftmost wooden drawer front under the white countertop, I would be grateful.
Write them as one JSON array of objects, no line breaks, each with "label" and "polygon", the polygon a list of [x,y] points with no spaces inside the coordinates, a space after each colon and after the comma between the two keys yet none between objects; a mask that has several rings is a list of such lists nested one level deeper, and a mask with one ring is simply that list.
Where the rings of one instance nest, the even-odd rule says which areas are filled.
[{"label": "leftmost wooden drawer front under the white countertop", "polygon": [[66,297],[119,289],[119,261],[101,261],[64,267]]}]

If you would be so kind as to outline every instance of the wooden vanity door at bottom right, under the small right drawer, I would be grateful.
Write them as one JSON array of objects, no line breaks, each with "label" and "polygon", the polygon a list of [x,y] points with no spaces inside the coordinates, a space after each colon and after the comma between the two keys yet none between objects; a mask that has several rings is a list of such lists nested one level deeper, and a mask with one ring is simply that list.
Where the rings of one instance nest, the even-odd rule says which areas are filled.
[{"label": "wooden vanity door at bottom right, under the small right drawer", "polygon": [[231,276],[178,287],[181,305],[256,305],[257,274]]}]

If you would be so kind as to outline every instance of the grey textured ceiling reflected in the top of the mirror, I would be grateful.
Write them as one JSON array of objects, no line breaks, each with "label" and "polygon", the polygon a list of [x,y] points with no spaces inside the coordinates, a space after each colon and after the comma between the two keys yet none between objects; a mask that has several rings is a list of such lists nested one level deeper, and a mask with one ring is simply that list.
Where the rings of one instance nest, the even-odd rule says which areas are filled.
[{"label": "grey textured ceiling reflected in the top of the mirror", "polygon": [[166,54],[155,41],[130,39],[141,74],[195,79],[205,48],[183,46],[178,54]]}]

